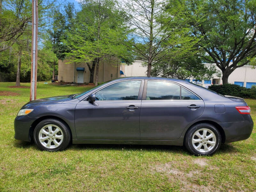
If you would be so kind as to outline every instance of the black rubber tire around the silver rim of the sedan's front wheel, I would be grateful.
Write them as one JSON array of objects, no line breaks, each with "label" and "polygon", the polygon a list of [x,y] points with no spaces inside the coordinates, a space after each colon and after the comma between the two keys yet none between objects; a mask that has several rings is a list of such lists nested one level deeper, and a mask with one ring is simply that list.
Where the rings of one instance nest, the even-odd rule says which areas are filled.
[{"label": "black rubber tire around the silver rim of the sedan's front wheel", "polygon": [[[41,143],[41,141],[39,140],[39,132],[40,132],[40,130],[43,128],[43,127],[45,127],[45,126],[47,126],[47,125],[53,125],[52,126],[52,130],[53,130],[53,132],[52,132],[52,134],[49,134],[49,137],[47,137],[48,139],[49,139],[49,141],[51,141],[50,142],[50,146],[51,146],[51,148],[47,148],[46,146],[44,146],[44,145],[46,145],[46,142],[48,143],[49,141],[48,140],[45,140],[44,142],[45,143]],[[55,138],[55,135],[54,135],[54,137],[53,137],[53,133],[54,133],[54,130],[56,130],[57,128],[56,127],[54,127],[54,126],[56,126],[56,127],[58,127],[60,130],[61,130],[61,132],[56,132],[56,136],[59,136],[59,135],[57,135],[57,134],[60,134],[60,136],[62,136],[62,138],[63,139],[56,139]],[[45,130],[47,131],[49,131],[49,129],[46,127],[45,128]],[[49,132],[50,133],[50,132]],[[47,135],[44,135],[43,134],[43,137],[46,137]],[[68,127],[68,125],[65,123],[65,122],[63,122],[63,121],[60,121],[60,120],[58,120],[58,119],[44,119],[44,120],[42,120],[41,122],[39,122],[37,125],[36,125],[36,128],[35,128],[35,130],[34,130],[34,134],[33,134],[33,137],[34,137],[34,141],[35,141],[35,143],[36,143],[36,146],[40,149],[40,150],[45,150],[45,151],[61,151],[61,150],[63,150],[63,149],[65,149],[65,148],[67,148],[68,147],[68,144],[70,143],[70,140],[71,140],[71,132],[70,132],[70,129],[69,129],[69,127]],[[56,147],[56,145],[57,144],[54,144],[54,142],[53,142],[53,140],[54,140],[54,138],[55,138],[55,141],[58,141],[58,142],[60,142],[60,145],[58,146],[58,147]]]}]

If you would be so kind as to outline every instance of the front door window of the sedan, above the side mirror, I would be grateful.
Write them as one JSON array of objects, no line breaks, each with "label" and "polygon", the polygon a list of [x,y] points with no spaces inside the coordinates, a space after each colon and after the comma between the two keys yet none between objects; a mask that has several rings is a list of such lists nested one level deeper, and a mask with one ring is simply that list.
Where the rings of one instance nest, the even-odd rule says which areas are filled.
[{"label": "front door window of the sedan, above the side mirror", "polygon": [[137,100],[141,81],[122,81],[96,92],[96,100]]}]

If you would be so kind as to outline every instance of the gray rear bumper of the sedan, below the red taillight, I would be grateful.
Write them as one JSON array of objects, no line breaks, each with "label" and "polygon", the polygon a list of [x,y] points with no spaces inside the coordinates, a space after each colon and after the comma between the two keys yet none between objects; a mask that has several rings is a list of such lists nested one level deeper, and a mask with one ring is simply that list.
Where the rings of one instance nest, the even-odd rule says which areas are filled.
[{"label": "gray rear bumper of the sedan, below the red taillight", "polygon": [[250,115],[243,115],[243,122],[220,123],[226,136],[225,143],[246,140],[252,134],[253,121]]}]

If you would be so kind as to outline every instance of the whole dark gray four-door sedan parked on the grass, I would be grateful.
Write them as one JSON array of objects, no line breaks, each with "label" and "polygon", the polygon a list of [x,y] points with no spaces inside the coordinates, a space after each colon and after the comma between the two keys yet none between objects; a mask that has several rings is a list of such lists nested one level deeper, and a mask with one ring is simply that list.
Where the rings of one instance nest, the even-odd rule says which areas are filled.
[{"label": "whole dark gray four-door sedan parked on the grass", "polygon": [[250,137],[244,99],[187,81],[125,77],[73,95],[25,104],[14,120],[15,138],[46,151],[72,143],[184,145],[212,155],[221,143]]}]

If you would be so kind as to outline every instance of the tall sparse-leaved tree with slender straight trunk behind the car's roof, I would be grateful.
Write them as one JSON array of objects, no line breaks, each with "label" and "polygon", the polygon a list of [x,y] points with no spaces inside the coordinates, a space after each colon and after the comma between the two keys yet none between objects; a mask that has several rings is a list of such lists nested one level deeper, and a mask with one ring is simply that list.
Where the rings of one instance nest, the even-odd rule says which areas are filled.
[{"label": "tall sparse-leaved tree with slender straight trunk behind the car's roof", "polygon": [[192,53],[197,39],[189,36],[184,5],[179,0],[131,0],[119,4],[131,27],[124,44],[132,49],[135,59],[148,64],[147,76],[156,63]]}]

